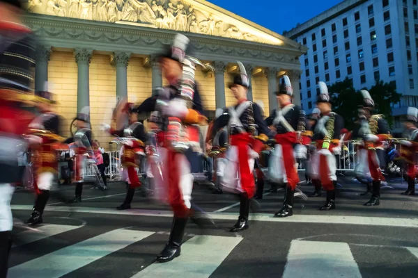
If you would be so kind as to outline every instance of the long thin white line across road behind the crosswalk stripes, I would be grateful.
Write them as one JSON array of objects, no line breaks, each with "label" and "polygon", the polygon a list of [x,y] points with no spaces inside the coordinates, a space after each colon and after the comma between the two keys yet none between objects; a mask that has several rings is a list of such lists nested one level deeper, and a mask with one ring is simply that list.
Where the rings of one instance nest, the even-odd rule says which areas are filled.
[{"label": "long thin white line across road behind the crosswalk stripes", "polygon": [[[30,211],[30,205],[12,205],[13,210]],[[118,211],[114,208],[89,208],[82,206],[47,206],[45,211],[62,211],[70,213],[100,213],[116,215],[136,215],[136,216],[157,216],[173,217],[171,211],[130,209]],[[208,213],[213,220],[236,220],[237,213]],[[274,218],[272,214],[253,213],[253,221],[265,222],[295,222],[295,223],[325,223],[325,224],[358,224],[371,226],[387,227],[409,227],[418,228],[418,218],[379,218],[367,216],[348,216],[348,215],[293,215],[288,218]]]}]

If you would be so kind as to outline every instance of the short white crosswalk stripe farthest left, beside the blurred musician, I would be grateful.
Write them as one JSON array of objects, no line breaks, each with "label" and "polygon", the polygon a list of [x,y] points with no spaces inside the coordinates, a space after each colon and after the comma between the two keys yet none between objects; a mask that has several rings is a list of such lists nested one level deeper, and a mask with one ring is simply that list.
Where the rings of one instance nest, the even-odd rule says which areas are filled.
[{"label": "short white crosswalk stripe farthest left, beside the blurred musician", "polygon": [[20,245],[33,243],[34,241],[41,240],[44,238],[49,238],[49,236],[55,236],[57,234],[64,233],[65,231],[71,231],[73,229],[78,229],[83,226],[73,226],[73,225],[59,225],[59,224],[47,224],[43,226],[36,227],[36,229],[29,229],[22,231],[16,235],[16,244],[13,244],[13,247]]}]

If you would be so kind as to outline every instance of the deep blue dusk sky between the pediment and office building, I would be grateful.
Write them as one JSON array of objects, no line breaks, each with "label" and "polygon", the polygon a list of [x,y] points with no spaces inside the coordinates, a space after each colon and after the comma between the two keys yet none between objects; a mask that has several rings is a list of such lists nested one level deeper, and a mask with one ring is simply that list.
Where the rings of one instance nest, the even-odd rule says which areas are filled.
[{"label": "deep blue dusk sky between the pediment and office building", "polygon": [[343,0],[208,0],[276,33],[283,33]]}]

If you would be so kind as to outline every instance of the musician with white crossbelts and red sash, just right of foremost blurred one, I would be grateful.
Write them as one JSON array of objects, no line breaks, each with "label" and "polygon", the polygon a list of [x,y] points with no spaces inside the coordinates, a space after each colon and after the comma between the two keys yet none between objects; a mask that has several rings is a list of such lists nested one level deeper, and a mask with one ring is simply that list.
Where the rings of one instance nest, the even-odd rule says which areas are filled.
[{"label": "musician with white crossbelts and red sash, just right of foremost blurred one", "polygon": [[[248,217],[251,198],[255,193],[254,158],[258,158],[270,129],[261,115],[261,108],[247,99],[249,79],[244,65],[238,62],[240,74],[234,76],[229,88],[237,104],[224,110],[215,121],[214,130],[228,126],[230,145],[226,158],[227,164],[221,183],[224,190],[232,190],[240,195],[240,216],[229,230],[232,232],[248,229]],[[254,132],[258,136],[254,137]],[[238,180],[237,180],[238,174]],[[255,202],[255,200],[254,200]]]}]

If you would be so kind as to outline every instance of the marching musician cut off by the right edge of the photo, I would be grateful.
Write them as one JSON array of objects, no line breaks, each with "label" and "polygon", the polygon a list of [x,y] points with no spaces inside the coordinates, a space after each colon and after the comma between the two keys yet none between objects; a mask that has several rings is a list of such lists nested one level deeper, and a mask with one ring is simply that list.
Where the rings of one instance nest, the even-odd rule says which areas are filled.
[{"label": "marching musician cut off by the right edge of the photo", "polygon": [[401,140],[401,156],[407,163],[406,179],[408,190],[402,195],[415,195],[415,178],[418,177],[418,108],[408,107],[407,116],[403,125],[405,126],[405,137],[408,140]]}]

